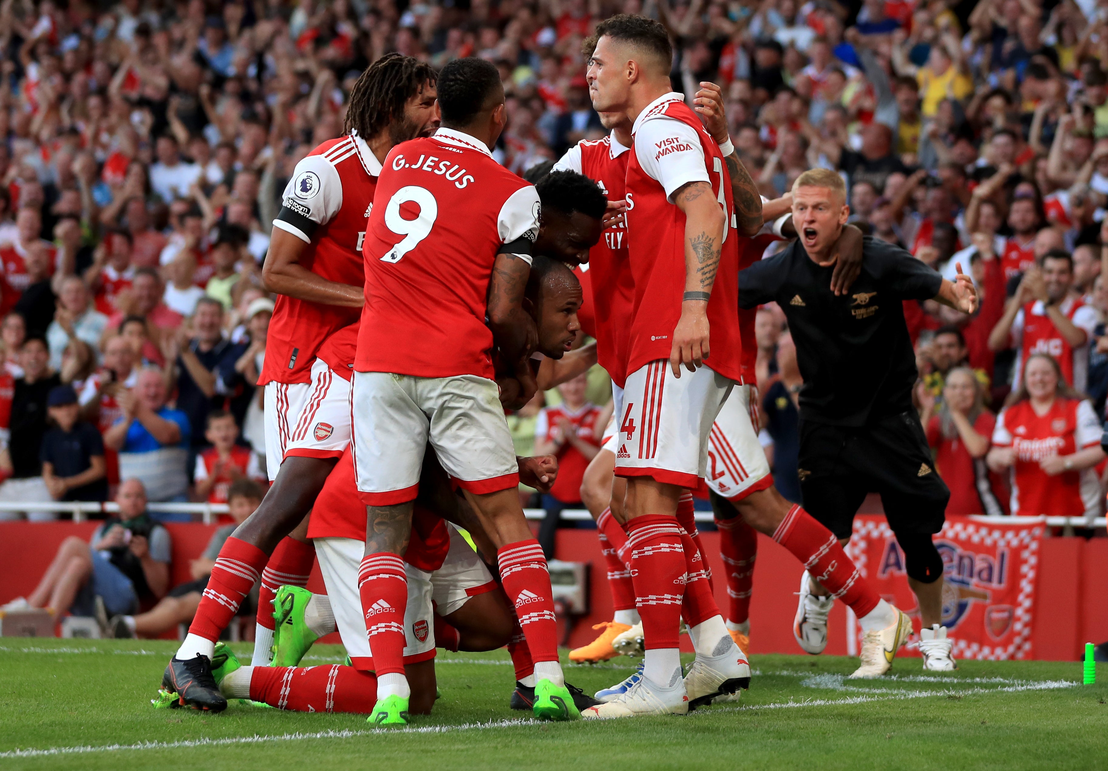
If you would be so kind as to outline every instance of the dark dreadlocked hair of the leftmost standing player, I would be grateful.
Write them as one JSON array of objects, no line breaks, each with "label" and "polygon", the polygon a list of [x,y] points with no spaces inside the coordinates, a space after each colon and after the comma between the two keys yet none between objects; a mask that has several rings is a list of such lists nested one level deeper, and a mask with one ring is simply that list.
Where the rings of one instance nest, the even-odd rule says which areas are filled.
[{"label": "dark dreadlocked hair of the leftmost standing player", "polygon": [[404,103],[425,85],[433,85],[430,64],[400,53],[387,53],[370,64],[350,91],[342,132],[357,131],[365,140],[404,114]]}]

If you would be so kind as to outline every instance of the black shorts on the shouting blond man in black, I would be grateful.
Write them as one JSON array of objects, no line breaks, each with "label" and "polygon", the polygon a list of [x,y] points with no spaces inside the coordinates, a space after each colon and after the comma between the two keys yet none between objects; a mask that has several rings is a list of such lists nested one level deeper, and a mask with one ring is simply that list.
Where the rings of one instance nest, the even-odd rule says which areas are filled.
[{"label": "black shorts on the shouting blond man in black", "polygon": [[951,491],[931,457],[920,418],[901,413],[860,428],[800,423],[797,463],[804,508],[837,538],[850,538],[870,493],[881,495],[894,532],[938,532]]}]

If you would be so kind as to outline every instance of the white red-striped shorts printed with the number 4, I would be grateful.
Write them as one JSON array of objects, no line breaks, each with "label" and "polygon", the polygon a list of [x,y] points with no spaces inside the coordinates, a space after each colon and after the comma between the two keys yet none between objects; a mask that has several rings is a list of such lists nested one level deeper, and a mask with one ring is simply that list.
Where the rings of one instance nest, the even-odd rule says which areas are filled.
[{"label": "white red-striped shorts printed with the number 4", "polygon": [[616,425],[616,476],[699,487],[711,425],[735,385],[708,367],[674,377],[664,358],[632,373]]}]

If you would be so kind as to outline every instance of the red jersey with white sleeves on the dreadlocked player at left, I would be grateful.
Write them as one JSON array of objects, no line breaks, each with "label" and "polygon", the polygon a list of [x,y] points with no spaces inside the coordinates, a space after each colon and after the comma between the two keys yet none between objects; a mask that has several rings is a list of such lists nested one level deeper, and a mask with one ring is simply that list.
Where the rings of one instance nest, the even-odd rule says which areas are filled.
[{"label": "red jersey with white sleeves on the dreadlocked player at left", "polygon": [[[361,242],[381,164],[359,136],[324,142],[296,164],[274,226],[310,244],[300,265],[339,284],[366,282]],[[258,385],[308,383],[317,351],[359,310],[278,295]]]}]

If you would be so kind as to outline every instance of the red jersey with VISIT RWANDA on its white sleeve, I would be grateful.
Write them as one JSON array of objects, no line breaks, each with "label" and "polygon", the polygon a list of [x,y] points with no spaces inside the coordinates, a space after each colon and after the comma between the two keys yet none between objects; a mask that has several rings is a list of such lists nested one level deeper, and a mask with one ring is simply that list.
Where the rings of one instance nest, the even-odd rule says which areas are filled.
[{"label": "red jersey with VISIT RWANDA on its white sleeve", "polygon": [[[685,291],[685,214],[648,173],[654,166],[683,162],[698,175],[678,174],[679,182],[705,180],[724,207],[727,223],[708,301],[711,357],[705,364],[742,383],[742,341],[739,336],[739,237],[736,231],[731,179],[716,141],[681,94],[655,100],[635,121],[635,148],[627,163],[628,262],[635,281],[635,305],[627,352],[627,373],[649,362],[669,358],[674,329],[681,315]],[[671,119],[671,120],[670,120]],[[684,124],[685,129],[680,125]],[[693,135],[697,144],[693,144]]]}]

